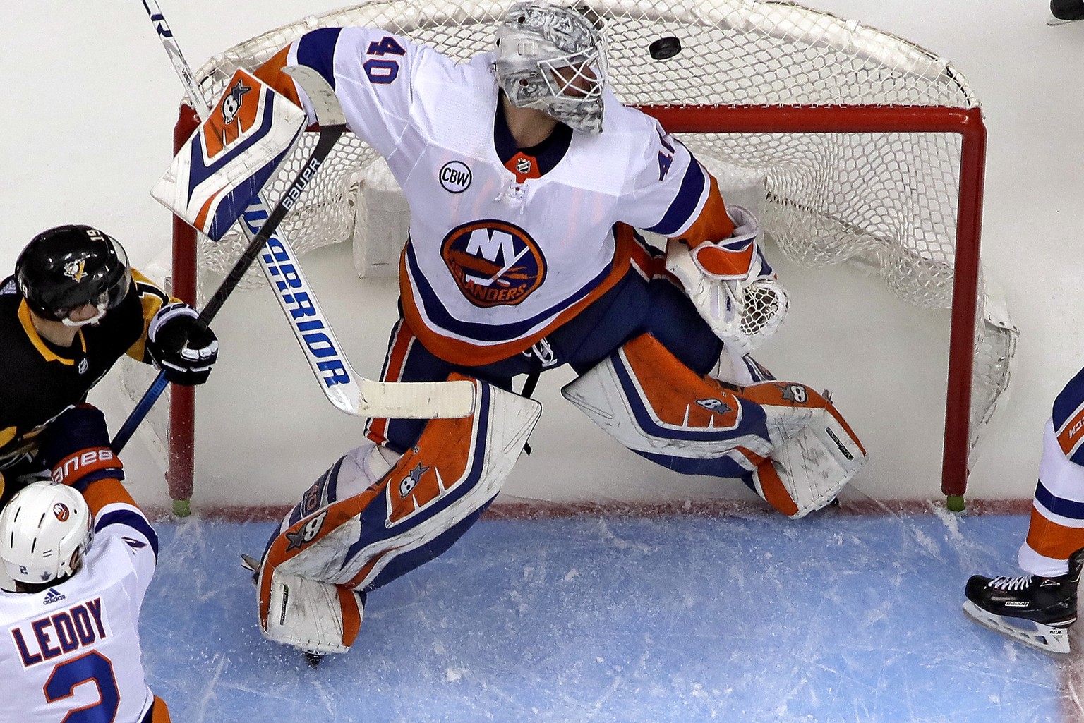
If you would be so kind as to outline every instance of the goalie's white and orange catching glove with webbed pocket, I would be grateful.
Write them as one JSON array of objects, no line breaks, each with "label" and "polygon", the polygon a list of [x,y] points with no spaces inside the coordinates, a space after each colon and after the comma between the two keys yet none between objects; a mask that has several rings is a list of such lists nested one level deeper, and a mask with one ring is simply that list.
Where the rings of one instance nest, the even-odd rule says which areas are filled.
[{"label": "goalie's white and orange catching glove with webbed pocket", "polygon": [[724,343],[748,353],[767,340],[787,315],[787,289],[757,244],[760,223],[740,206],[727,215],[734,233],[694,248],[680,238],[667,244],[667,271],[681,282],[700,317]]}]

